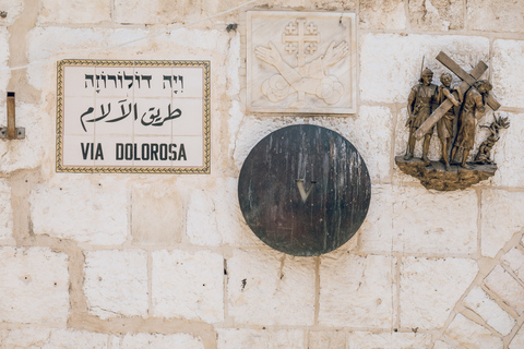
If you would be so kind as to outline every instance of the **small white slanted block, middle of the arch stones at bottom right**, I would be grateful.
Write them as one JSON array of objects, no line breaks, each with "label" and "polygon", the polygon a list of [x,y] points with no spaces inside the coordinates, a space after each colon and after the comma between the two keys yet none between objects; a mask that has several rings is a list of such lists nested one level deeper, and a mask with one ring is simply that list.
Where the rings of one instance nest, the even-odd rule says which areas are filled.
[{"label": "small white slanted block, middle of the arch stones at bottom right", "polygon": [[464,305],[480,315],[486,323],[502,336],[510,334],[515,321],[504,312],[481,288],[475,287],[464,299]]}]

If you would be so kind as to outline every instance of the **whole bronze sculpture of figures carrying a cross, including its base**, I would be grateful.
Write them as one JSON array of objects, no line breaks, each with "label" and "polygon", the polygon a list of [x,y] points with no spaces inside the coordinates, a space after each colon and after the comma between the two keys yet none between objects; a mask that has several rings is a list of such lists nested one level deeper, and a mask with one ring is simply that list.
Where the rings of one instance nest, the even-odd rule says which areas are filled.
[{"label": "whole bronze sculpture of figures carrying a cross, including its base", "polygon": [[[500,139],[499,131],[507,129],[507,118],[496,117],[487,128],[491,135],[480,145],[474,163],[467,163],[475,144],[476,123],[486,112],[486,106],[497,110],[500,104],[490,94],[492,85],[479,80],[487,70],[480,61],[471,73],[465,72],[445,53],[437,56],[442,64],[463,82],[452,87],[451,73],[440,76],[441,85],[432,84],[433,73],[426,68],[419,84],[415,85],[407,98],[409,128],[406,153],[395,158],[398,168],[420,180],[427,189],[450,191],[465,189],[495,174],[497,165],[490,159],[491,149]],[[437,132],[441,145],[441,158],[428,158],[429,144]],[[414,157],[416,140],[424,139],[421,158]],[[451,153],[451,154],[450,154]],[[458,161],[456,161],[460,159]]]}]

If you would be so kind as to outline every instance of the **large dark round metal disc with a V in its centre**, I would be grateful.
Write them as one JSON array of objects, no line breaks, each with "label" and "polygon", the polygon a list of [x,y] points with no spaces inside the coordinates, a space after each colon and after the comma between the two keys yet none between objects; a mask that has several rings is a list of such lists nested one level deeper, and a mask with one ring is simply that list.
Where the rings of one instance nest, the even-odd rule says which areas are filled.
[{"label": "large dark round metal disc with a V in its centre", "polygon": [[240,170],[238,200],[253,232],[281,252],[312,256],[346,243],[366,218],[368,169],[331,130],[291,125],[260,141]]}]

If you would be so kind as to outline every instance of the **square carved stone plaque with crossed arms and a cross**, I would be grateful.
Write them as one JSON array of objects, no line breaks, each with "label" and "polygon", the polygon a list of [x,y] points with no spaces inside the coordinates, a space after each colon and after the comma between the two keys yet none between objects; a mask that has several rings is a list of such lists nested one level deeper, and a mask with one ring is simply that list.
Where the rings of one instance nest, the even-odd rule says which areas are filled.
[{"label": "square carved stone plaque with crossed arms and a cross", "polygon": [[251,112],[355,113],[355,14],[250,11]]}]

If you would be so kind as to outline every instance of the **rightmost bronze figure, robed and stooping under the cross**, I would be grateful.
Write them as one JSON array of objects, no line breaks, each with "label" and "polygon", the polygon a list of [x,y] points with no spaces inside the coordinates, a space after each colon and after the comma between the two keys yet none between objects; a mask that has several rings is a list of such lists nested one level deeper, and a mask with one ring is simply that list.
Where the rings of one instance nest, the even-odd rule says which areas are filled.
[{"label": "rightmost bronze figure, robed and stooping under the cross", "polygon": [[458,118],[458,133],[451,152],[451,159],[454,160],[456,151],[458,148],[463,149],[461,164],[463,168],[469,168],[466,159],[475,143],[475,119],[479,119],[486,111],[486,99],[491,88],[493,87],[488,81],[479,80],[473,84],[464,97],[464,104]]}]

